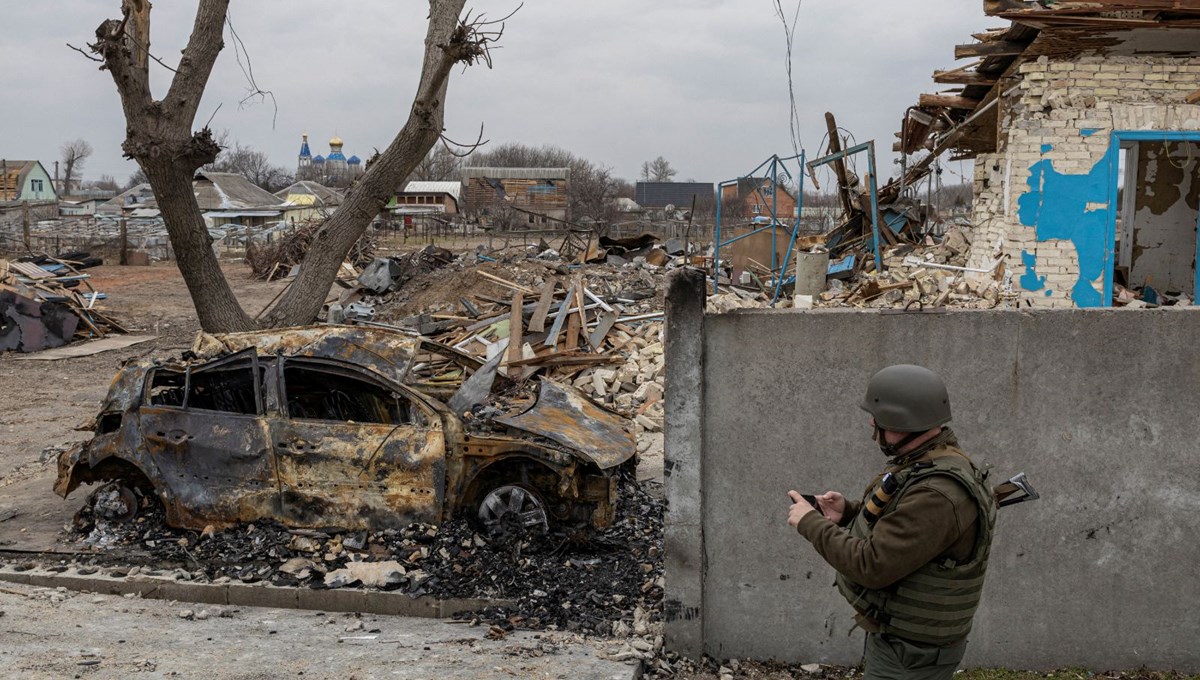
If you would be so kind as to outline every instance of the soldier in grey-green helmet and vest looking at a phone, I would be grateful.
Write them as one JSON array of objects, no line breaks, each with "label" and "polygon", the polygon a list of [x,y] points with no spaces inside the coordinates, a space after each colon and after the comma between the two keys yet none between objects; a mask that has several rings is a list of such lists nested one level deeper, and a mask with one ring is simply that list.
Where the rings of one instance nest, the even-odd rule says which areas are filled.
[{"label": "soldier in grey-green helmet and vest looking at a phone", "polygon": [[985,474],[946,423],[950,402],[936,373],[889,366],[866,387],[863,410],[888,458],[862,501],[800,494],[788,524],[838,571],[838,590],[866,631],[866,680],[950,678],[979,604],[996,504]]}]

